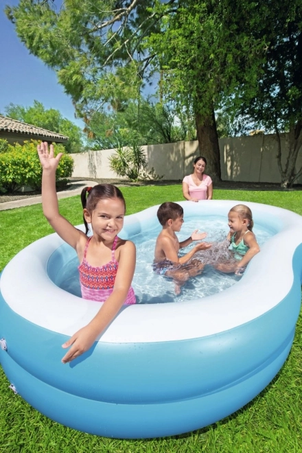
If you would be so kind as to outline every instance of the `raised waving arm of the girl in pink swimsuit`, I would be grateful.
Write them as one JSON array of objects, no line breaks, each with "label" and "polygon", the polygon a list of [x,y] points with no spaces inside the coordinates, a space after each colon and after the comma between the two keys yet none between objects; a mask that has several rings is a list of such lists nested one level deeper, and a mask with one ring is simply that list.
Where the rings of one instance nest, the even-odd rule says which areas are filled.
[{"label": "raised waving arm of the girl in pink swimsuit", "polygon": [[[62,157],[62,152],[54,156],[54,146],[48,150],[48,143],[40,143],[37,147],[42,173],[42,207],[43,213],[51,227],[58,233],[62,240],[73,248],[77,248],[81,237],[86,235],[79,231],[65,217],[61,216],[58,209],[58,197],[56,194],[56,169]],[[86,240],[86,239],[85,239]]]}]

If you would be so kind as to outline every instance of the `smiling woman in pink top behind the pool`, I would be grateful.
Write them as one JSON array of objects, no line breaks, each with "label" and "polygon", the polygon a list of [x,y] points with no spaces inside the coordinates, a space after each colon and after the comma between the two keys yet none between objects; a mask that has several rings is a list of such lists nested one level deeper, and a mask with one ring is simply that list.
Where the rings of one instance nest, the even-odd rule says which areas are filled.
[{"label": "smiling woman in pink top behind the pool", "polygon": [[183,178],[183,196],[186,200],[198,202],[199,200],[211,200],[213,196],[213,183],[207,174],[205,157],[196,157],[193,167],[194,173]]}]

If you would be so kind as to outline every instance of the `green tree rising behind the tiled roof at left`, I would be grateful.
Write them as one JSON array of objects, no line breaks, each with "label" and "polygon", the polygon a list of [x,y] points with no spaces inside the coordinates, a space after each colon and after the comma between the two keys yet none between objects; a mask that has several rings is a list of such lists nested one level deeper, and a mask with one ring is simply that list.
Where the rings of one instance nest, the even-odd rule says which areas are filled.
[{"label": "green tree rising behind the tiled roof at left", "polygon": [[83,148],[84,137],[81,129],[69,119],[63,118],[58,110],[54,108],[46,110],[41,102],[35,100],[31,107],[10,104],[5,107],[5,114],[12,119],[32,124],[38,128],[66,135],[69,137],[64,145],[67,152],[80,152]]}]

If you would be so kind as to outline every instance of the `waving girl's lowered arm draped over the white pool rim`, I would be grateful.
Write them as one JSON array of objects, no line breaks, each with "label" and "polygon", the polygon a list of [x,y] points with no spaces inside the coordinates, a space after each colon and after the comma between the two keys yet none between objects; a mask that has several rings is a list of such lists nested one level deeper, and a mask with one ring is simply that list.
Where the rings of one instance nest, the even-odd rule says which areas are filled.
[{"label": "waving girl's lowered arm draped over the white pool rim", "polygon": [[97,312],[91,322],[78,330],[67,342],[62,345],[63,348],[71,346],[69,351],[62,358],[63,363],[80,356],[91,348],[97,336],[102,334],[104,329],[113,321],[124,301],[126,300],[132,278],[135,273],[135,244],[126,241],[120,246],[119,268],[115,277],[115,286],[108,299],[102,303],[102,307]]}]

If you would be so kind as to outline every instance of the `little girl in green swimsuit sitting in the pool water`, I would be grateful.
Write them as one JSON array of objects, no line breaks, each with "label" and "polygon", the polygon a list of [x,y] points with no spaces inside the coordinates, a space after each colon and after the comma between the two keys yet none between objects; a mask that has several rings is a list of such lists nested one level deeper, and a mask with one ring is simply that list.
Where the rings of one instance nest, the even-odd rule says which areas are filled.
[{"label": "little girl in green swimsuit sitting in the pool water", "polygon": [[236,205],[229,211],[229,250],[235,259],[216,264],[215,268],[221,272],[235,272],[242,275],[246,266],[259,251],[259,245],[253,233],[252,211],[246,205]]}]

